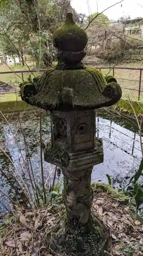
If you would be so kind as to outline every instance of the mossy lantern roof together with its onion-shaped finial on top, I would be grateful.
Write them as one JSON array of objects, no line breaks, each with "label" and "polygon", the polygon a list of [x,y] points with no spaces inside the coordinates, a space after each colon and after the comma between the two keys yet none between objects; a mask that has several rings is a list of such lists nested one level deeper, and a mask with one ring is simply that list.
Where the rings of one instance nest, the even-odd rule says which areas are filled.
[{"label": "mossy lantern roof together with its onion-shaped finial on top", "polygon": [[105,79],[98,69],[83,66],[87,42],[87,34],[68,13],[65,23],[53,34],[58,64],[47,69],[41,78],[22,84],[22,100],[50,111],[89,110],[115,104],[122,94],[116,79]]}]

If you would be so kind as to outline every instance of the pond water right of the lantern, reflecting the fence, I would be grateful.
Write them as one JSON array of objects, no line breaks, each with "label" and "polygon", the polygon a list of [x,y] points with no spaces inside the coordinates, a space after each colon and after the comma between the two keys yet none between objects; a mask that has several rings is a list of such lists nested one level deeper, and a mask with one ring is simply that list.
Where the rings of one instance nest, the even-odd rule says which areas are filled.
[{"label": "pond water right of the lantern, reflecting the fence", "polygon": [[96,134],[103,138],[104,162],[94,166],[92,180],[107,182],[106,174],[109,174],[113,185],[119,187],[126,181],[125,176],[133,175],[141,161],[139,135],[132,122],[113,119],[110,115],[106,119],[104,115],[101,113],[96,118]]}]

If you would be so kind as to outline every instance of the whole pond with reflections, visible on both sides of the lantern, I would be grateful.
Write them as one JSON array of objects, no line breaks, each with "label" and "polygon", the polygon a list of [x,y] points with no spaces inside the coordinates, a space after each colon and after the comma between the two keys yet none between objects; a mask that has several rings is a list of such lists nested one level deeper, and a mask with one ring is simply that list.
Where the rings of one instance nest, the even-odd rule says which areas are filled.
[{"label": "whole pond with reflections, visible on both sides of the lantern", "polygon": [[[14,184],[12,171],[17,178],[20,172],[25,182],[30,184],[27,169],[31,166],[37,183],[41,184],[39,113],[35,111],[5,115],[0,122],[1,148],[7,154],[0,152],[0,169],[3,172],[0,172],[0,190],[9,195],[13,193],[4,177],[7,174]],[[119,188],[126,183],[127,177],[135,173],[141,160],[137,125],[135,121],[119,118],[108,112],[97,112],[96,136],[103,139],[104,162],[93,167],[92,181],[107,183],[106,174],[109,174],[113,186]],[[50,119],[42,114],[42,140],[46,143],[49,139]],[[45,181],[52,183],[54,166],[43,161],[43,168]],[[56,181],[61,177],[62,175],[58,176]],[[0,195],[0,211],[4,211],[8,200],[2,193]]]}]

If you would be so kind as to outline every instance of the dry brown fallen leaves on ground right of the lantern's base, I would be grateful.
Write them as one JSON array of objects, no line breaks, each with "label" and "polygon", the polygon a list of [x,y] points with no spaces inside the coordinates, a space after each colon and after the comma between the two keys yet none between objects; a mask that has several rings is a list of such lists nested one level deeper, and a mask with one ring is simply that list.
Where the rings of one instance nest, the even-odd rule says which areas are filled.
[{"label": "dry brown fallen leaves on ground right of the lantern's base", "polygon": [[109,230],[112,255],[143,255],[143,225],[135,219],[129,206],[121,205],[106,193],[96,193],[92,212]]}]

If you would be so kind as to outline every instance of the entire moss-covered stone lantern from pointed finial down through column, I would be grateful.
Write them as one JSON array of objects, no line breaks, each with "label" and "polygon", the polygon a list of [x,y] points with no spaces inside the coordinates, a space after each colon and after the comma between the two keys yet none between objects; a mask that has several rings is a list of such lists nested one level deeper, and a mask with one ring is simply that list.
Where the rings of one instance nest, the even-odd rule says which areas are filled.
[{"label": "entire moss-covered stone lantern from pointed finial down through column", "polygon": [[25,102],[50,111],[51,142],[44,158],[63,170],[63,200],[71,233],[76,225],[83,233],[90,232],[91,173],[93,165],[103,162],[102,141],[95,137],[95,110],[121,98],[115,78],[105,79],[99,70],[83,66],[87,42],[87,34],[68,13],[53,34],[58,64],[20,90]]}]

